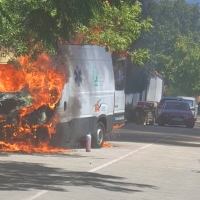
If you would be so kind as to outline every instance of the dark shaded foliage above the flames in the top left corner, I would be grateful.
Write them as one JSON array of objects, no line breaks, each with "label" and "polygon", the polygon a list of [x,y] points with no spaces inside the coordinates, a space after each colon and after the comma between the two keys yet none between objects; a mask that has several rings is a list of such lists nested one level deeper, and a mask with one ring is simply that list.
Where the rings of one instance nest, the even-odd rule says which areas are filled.
[{"label": "dark shaded foliage above the flames in the top left corner", "polygon": [[30,53],[38,44],[36,53],[56,52],[59,40],[68,41],[78,21],[87,24],[99,4],[98,0],[1,0],[0,43],[17,55]]}]

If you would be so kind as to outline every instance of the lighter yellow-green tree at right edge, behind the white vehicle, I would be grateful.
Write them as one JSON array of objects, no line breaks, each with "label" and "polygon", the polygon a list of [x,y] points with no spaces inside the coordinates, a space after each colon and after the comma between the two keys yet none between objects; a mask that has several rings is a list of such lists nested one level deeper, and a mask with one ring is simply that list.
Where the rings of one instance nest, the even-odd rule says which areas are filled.
[{"label": "lighter yellow-green tree at right edge, behind the white vehicle", "polygon": [[[196,96],[200,93],[200,37],[195,33],[179,35],[172,56],[171,94]],[[175,90],[174,90],[175,89]]]}]

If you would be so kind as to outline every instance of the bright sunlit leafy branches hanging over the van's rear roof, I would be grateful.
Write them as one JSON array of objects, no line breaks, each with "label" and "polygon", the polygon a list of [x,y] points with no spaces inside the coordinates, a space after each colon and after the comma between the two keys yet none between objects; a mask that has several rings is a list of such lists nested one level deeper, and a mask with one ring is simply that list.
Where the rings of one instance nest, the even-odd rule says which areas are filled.
[{"label": "bright sunlit leafy branches hanging over the van's rear roof", "polygon": [[[94,11],[94,18],[89,21],[89,26],[78,24],[77,31],[86,36],[82,43],[95,43],[105,46],[110,51],[130,51],[130,45],[136,41],[142,31],[152,28],[151,19],[141,19],[141,3],[136,1],[132,6],[121,2],[117,8],[106,3],[103,4],[102,12]],[[95,30],[98,28],[98,33]],[[149,58],[149,52],[141,49],[129,52],[132,61],[143,65]]]}]

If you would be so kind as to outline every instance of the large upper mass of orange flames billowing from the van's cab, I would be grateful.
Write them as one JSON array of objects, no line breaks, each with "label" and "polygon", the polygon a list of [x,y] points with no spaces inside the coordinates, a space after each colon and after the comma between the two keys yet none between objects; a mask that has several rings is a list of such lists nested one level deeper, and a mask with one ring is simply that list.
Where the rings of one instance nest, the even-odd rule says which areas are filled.
[{"label": "large upper mass of orange flames billowing from the van's cab", "polygon": [[54,108],[59,101],[66,74],[56,70],[51,58],[41,54],[37,61],[30,62],[29,56],[21,56],[19,59],[21,69],[15,69],[12,65],[0,64],[0,92],[19,91],[28,88],[33,104],[29,108],[21,109],[21,115],[48,105]]}]

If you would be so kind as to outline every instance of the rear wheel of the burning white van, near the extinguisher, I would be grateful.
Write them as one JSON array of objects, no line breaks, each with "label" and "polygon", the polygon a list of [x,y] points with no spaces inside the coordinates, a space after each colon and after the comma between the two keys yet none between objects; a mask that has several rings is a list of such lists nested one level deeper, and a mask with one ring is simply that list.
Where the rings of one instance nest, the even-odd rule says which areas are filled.
[{"label": "rear wheel of the burning white van, near the extinguisher", "polygon": [[105,126],[103,122],[98,122],[96,132],[92,135],[92,147],[101,148],[105,137]]}]

